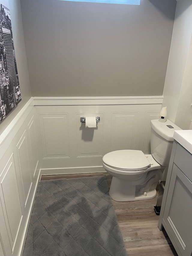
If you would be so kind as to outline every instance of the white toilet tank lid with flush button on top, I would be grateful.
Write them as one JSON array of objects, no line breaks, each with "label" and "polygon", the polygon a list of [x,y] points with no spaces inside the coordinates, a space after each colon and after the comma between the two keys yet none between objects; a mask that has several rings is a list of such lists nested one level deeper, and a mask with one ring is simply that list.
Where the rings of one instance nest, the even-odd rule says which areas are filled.
[{"label": "white toilet tank lid with flush button on top", "polygon": [[159,122],[158,119],[151,120],[151,128],[165,140],[173,141],[173,134],[176,130],[182,130],[179,126],[167,119],[166,122]]}]

